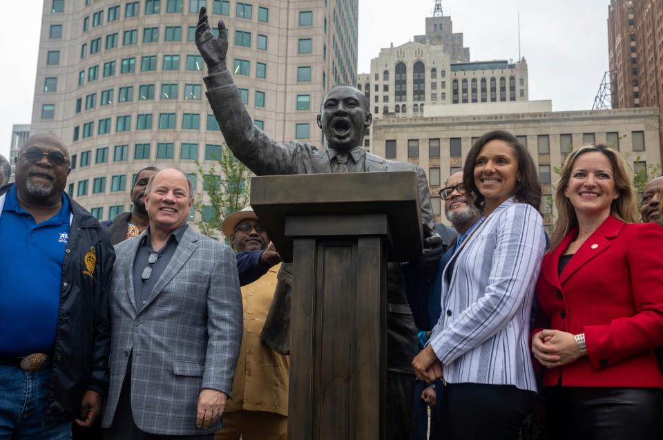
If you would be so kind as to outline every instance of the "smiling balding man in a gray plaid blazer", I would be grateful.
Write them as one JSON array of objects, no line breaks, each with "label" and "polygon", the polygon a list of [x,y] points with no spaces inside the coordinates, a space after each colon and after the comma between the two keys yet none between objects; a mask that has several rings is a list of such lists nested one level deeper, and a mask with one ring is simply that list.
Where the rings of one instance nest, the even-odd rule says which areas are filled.
[{"label": "smiling balding man in a gray plaid blazer", "polygon": [[230,247],[186,224],[191,194],[182,171],[157,173],[148,229],[115,247],[106,439],[212,439],[222,428],[242,298]]}]

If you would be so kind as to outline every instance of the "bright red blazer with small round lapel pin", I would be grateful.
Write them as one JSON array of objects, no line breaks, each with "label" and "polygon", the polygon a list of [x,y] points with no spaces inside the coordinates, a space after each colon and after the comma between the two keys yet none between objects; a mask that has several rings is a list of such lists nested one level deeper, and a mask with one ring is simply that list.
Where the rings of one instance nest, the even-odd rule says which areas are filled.
[{"label": "bright red blazer with small round lapel pin", "polygon": [[544,386],[561,375],[570,387],[663,388],[653,353],[663,346],[663,227],[610,216],[557,276],[559,256],[577,234],[573,229],[544,256],[535,332],[584,333],[588,355],[546,369]]}]

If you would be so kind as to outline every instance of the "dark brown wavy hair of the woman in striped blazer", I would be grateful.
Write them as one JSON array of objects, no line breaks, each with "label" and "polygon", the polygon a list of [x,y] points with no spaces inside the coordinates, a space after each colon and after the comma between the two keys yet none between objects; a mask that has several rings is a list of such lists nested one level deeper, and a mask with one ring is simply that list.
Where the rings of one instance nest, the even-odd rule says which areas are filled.
[{"label": "dark brown wavy hair of the woman in striped blazer", "polygon": [[532,205],[538,211],[541,206],[541,183],[539,183],[539,175],[532,156],[530,156],[526,146],[521,144],[517,137],[503,130],[489,131],[479,137],[477,142],[474,142],[474,145],[472,145],[468,157],[465,159],[463,184],[468,193],[474,194],[474,205],[479,209],[486,208],[486,200],[479,193],[477,184],[474,183],[474,164],[476,164],[477,157],[479,157],[483,146],[492,140],[506,142],[513,149],[518,160],[518,172],[520,175],[520,179],[516,182],[515,198],[518,202]]}]

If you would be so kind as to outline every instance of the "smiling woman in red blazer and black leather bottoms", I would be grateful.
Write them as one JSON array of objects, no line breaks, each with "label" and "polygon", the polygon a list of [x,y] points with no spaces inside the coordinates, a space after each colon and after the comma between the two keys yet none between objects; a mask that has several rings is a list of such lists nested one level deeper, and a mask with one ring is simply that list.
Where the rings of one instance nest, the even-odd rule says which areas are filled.
[{"label": "smiling woman in red blazer and black leather bottoms", "polygon": [[564,162],[532,332],[553,439],[663,438],[663,229],[635,224],[636,198],[611,147]]}]

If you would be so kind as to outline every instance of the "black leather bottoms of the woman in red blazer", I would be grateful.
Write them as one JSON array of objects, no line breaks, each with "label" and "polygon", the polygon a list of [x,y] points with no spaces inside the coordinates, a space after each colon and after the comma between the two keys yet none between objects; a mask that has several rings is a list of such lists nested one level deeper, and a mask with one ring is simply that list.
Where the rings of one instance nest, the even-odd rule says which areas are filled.
[{"label": "black leather bottoms of the woman in red blazer", "polygon": [[663,439],[657,388],[546,388],[550,439]]}]

